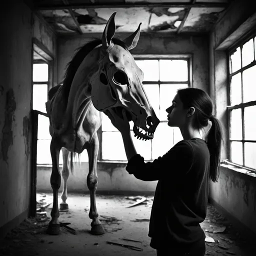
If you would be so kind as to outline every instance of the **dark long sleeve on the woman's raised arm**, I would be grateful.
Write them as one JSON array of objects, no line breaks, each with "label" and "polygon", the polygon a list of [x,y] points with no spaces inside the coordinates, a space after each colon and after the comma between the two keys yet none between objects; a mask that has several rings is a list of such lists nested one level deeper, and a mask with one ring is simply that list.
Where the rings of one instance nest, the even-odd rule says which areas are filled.
[{"label": "dark long sleeve on the woman's raised arm", "polygon": [[182,140],[152,162],[145,162],[140,154],[132,156],[126,170],[144,181],[159,180],[163,174],[165,177],[170,174],[172,178],[178,178],[189,171],[192,162],[193,149],[187,141]]}]

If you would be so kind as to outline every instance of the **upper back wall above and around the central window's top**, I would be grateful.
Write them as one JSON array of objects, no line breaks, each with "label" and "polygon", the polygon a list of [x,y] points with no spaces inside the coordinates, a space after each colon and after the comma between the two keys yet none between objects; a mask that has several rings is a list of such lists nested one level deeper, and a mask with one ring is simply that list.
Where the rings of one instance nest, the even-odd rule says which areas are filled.
[{"label": "upper back wall above and around the central window's top", "polygon": [[[116,34],[124,39],[129,34]],[[101,34],[89,36],[62,36],[58,38],[58,81],[63,79],[65,66],[71,60],[74,50],[92,37],[101,38]],[[192,54],[192,83],[194,87],[208,91],[208,38],[206,36],[161,36],[140,34],[137,46],[132,54]]]}]

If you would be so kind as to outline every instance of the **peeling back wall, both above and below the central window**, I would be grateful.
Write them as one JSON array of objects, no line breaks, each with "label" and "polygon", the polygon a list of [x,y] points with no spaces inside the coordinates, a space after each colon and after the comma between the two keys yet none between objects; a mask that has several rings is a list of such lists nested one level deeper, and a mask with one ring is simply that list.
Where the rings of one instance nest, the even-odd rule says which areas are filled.
[{"label": "peeling back wall, both above and below the central window", "polygon": [[[93,34],[91,37],[101,35]],[[123,35],[116,35],[123,39]],[[90,37],[76,36],[70,38],[63,36],[58,38],[58,81],[63,79],[64,68],[70,61],[74,50],[82,46]],[[140,35],[137,46],[132,49],[133,54],[192,54],[192,82],[194,87],[208,90],[208,40],[204,36],[145,36]],[[153,193],[156,181],[145,182],[129,175],[125,170],[126,164],[99,162],[97,165],[98,187],[97,192],[108,193]],[[50,168],[39,167],[37,170],[37,189],[51,191]],[[69,176],[68,191],[88,192],[86,176],[88,165],[86,162],[80,168],[75,168],[75,175]],[[62,182],[63,183],[63,182]],[[60,189],[62,189],[62,184]]]}]

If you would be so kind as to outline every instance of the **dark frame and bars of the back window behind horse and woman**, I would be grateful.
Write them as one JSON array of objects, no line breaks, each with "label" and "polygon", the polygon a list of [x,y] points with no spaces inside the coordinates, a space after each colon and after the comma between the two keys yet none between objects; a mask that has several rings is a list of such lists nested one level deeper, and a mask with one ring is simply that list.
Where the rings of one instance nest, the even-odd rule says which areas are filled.
[{"label": "dark frame and bars of the back window behind horse and woman", "polygon": [[[143,81],[143,84],[187,84],[187,87],[192,87],[192,54],[132,54],[135,60],[150,60],[150,59],[171,59],[171,60],[187,60],[187,81]],[[104,114],[104,113],[102,113]],[[160,122],[167,122],[161,121]],[[130,129],[132,131],[132,127]],[[99,129],[97,130],[98,140],[99,140],[99,149],[98,149],[98,162],[127,162],[127,160],[110,160],[110,159],[103,159],[102,157],[102,134],[105,131],[102,131],[102,127],[100,125]],[[109,131],[111,132],[111,131]],[[112,131],[118,132],[118,131]],[[151,142],[151,159],[148,161],[152,161],[152,142]]]}]

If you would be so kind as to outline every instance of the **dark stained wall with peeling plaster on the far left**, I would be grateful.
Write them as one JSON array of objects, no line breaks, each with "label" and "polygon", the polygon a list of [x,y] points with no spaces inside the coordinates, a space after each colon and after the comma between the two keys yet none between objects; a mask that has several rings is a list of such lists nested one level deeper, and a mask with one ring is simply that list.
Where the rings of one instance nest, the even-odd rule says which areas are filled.
[{"label": "dark stained wall with peeling plaster on the far left", "polygon": [[28,215],[34,17],[21,0],[0,8],[0,236]]}]

